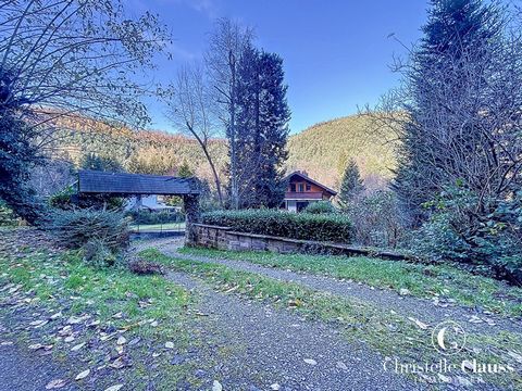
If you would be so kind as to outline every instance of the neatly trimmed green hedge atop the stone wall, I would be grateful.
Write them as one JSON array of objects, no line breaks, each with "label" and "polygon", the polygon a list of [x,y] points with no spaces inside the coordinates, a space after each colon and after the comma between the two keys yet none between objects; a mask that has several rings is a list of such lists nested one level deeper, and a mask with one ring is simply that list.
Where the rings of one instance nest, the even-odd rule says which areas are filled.
[{"label": "neatly trimmed green hedge atop the stone wall", "polygon": [[274,210],[216,211],[203,224],[231,227],[240,232],[284,238],[349,243],[352,225],[340,214],[306,214]]}]

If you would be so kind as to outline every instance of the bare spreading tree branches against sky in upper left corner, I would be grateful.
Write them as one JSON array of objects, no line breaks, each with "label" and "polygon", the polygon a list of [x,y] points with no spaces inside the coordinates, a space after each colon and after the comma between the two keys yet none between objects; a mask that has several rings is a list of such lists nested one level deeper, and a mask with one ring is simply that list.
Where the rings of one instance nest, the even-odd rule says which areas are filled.
[{"label": "bare spreading tree branches against sky in upper left corner", "polygon": [[40,135],[70,114],[142,124],[136,81],[170,39],[157,16],[129,18],[121,0],[27,0],[0,4],[0,109]]}]

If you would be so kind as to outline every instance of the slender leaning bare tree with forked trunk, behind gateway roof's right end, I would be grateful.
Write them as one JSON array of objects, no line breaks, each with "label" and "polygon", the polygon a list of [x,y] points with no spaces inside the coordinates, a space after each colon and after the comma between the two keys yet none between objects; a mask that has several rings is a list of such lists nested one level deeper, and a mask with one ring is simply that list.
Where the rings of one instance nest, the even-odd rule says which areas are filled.
[{"label": "slender leaning bare tree with forked trunk, behind gateway roof's right end", "polygon": [[217,127],[211,111],[212,102],[204,72],[200,66],[184,66],[178,73],[167,100],[169,117],[185,134],[194,137],[209,162],[220,204],[223,205],[221,179],[209,151],[209,141]]}]

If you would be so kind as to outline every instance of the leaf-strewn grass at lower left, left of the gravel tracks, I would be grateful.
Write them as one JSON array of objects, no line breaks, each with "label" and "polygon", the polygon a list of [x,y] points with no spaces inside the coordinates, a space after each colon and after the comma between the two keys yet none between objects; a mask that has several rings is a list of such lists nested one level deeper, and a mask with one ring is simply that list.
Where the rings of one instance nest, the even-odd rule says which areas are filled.
[{"label": "leaf-strewn grass at lower left, left of the gravel tracks", "polygon": [[[0,249],[0,303],[12,300],[16,306],[0,305],[4,325],[13,330],[1,339],[15,340],[28,350],[35,343],[52,346],[53,357],[72,366],[72,379],[80,369],[90,368],[90,377],[98,377],[103,384],[97,383],[99,389],[117,382],[125,389],[145,390],[145,378],[150,376],[157,377],[153,381],[159,389],[176,389],[181,379],[194,381],[195,387],[199,382],[191,375],[194,364],[170,363],[172,354],[198,343],[189,335],[189,311],[197,298],[162,276],[94,268],[73,251],[27,248],[13,254]],[[17,331],[20,325],[24,331]],[[64,330],[74,341],[64,339]],[[122,337],[126,342],[116,343]],[[140,342],[130,346],[128,342],[136,339]],[[165,349],[166,342],[173,345]],[[82,343],[85,345],[72,353],[72,346]],[[108,357],[134,364],[112,369],[114,358],[108,362]],[[82,368],[75,364],[78,362]],[[105,363],[107,369],[96,369],[99,363]],[[156,368],[152,375],[151,367]]]}]

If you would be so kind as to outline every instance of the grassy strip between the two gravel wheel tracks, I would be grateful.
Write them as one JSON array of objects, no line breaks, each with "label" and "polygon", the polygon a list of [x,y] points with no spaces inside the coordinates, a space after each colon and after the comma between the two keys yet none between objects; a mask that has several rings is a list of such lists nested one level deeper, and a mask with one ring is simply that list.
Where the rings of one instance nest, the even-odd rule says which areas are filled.
[{"label": "grassy strip between the two gravel wheel tracks", "polygon": [[[440,355],[431,344],[430,327],[421,328],[411,319],[395,312],[386,312],[355,299],[319,292],[298,283],[278,281],[256,273],[235,270],[220,264],[188,261],[163,255],[149,249],[140,254],[172,269],[198,276],[217,290],[240,294],[275,306],[295,311],[311,319],[333,323],[356,345],[369,344],[389,357],[400,357],[408,363],[436,363]],[[521,336],[500,332],[495,336],[468,335],[469,348],[452,355],[450,362],[459,363],[475,357],[486,362],[512,365],[508,349],[522,352]],[[511,351],[511,352],[512,352]],[[472,353],[470,353],[472,352]],[[522,374],[514,371],[502,376],[485,375],[484,380],[518,389]]]}]

